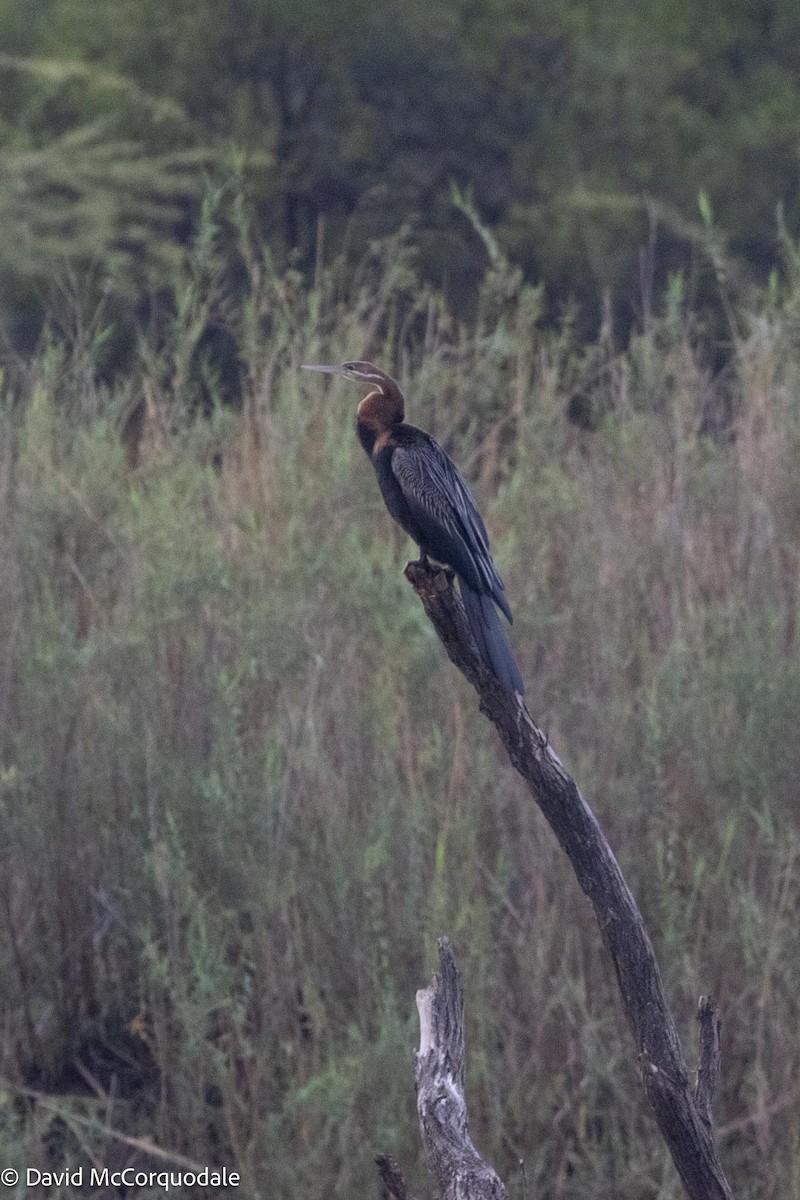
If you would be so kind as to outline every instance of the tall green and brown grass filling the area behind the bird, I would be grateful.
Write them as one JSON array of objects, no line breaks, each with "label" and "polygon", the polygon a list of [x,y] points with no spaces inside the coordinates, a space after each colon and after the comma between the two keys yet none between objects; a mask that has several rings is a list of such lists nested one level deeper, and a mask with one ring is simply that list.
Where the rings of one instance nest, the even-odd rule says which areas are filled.
[{"label": "tall green and brown grass filling the area behind the bird", "polygon": [[[357,395],[299,371],[369,355],[475,481],[529,706],[690,1048],[721,1002],[736,1195],[796,1196],[796,283],[712,378],[676,284],[626,350],[579,350],[503,262],[467,326],[402,242],[311,293],[242,242],[233,299],[209,229],[137,377],[104,390],[78,338],[2,414],[4,1165],[146,1162],[122,1135],[311,1200],[377,1196],[381,1150],[425,1194],[414,991],[447,932],[512,1192],[522,1162],[531,1196],[680,1195],[587,902],[402,578]],[[243,409],[188,420],[209,319]]]}]

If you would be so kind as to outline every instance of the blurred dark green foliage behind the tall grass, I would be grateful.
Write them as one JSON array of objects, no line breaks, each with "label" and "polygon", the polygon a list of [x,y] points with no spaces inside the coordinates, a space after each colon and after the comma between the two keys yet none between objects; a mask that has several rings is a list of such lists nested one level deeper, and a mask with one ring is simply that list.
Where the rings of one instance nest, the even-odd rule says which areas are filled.
[{"label": "blurred dark green foliage behind the tall grass", "polygon": [[[765,276],[800,222],[795,0],[0,0],[0,304],[32,344],[62,263],[126,302],[164,287],[203,180],[241,172],[273,250],[311,269],[416,226],[451,295],[477,210],[558,313],[640,324],[639,253],[691,266],[697,198]],[[703,289],[703,280],[697,282]]]}]

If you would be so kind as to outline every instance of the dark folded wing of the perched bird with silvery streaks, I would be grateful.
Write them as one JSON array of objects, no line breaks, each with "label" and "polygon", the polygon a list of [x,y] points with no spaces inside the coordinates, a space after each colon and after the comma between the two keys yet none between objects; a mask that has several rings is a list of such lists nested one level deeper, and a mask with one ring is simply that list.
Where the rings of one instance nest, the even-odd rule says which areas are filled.
[{"label": "dark folded wing of the perched bird with silvery streaks", "polygon": [[456,464],[433,438],[423,434],[395,445],[391,469],[425,533],[426,548],[452,566],[474,590],[491,595],[511,620],[486,526]]}]

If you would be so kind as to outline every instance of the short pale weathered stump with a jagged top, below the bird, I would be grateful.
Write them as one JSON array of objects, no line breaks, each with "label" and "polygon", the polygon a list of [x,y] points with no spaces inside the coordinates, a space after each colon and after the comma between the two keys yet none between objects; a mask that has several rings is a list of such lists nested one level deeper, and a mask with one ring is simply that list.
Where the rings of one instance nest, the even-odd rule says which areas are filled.
[{"label": "short pale weathered stump with a jagged top, below the bird", "polygon": [[469,1136],[464,1098],[464,997],[450,941],[439,938],[439,974],[416,994],[420,1051],[416,1108],[441,1200],[505,1200],[506,1189]]}]

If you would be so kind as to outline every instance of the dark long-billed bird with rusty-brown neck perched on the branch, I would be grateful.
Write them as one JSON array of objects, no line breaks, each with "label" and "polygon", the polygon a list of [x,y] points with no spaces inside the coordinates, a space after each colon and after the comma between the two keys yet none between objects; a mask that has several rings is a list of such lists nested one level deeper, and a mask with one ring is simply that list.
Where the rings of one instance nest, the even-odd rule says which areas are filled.
[{"label": "dark long-billed bird with rusty-brown neck perched on the branch", "polygon": [[312,366],[371,390],[356,409],[356,433],[367,452],[391,516],[428,556],[458,578],[469,628],[486,667],[507,692],[524,684],[505,638],[498,608],[512,620],[503,580],[492,560],[486,526],[452,458],[425,430],[405,421],[405,397],[396,379],[372,362]]}]

